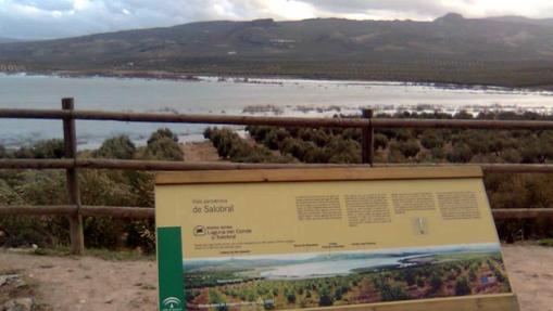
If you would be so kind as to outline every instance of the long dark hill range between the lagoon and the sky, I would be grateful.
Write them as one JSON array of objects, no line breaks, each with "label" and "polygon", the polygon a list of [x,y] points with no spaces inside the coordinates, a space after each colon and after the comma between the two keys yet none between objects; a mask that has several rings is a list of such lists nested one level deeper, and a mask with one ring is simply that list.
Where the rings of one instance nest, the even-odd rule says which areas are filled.
[{"label": "long dark hill range between the lagoon and the sky", "polygon": [[0,44],[29,69],[553,85],[553,20],[201,22]]}]

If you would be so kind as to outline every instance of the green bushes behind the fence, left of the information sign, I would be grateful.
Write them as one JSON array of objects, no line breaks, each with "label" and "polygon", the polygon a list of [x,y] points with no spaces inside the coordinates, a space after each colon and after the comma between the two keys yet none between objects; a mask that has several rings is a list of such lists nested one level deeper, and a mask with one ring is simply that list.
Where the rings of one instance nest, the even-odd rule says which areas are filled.
[{"label": "green bushes behind the fence, left of the information sign", "polygon": [[[17,150],[0,147],[0,158],[61,158],[62,140],[47,140]],[[137,147],[126,135],[105,140],[79,157],[115,159],[183,160],[178,137],[159,129],[144,147]],[[84,205],[153,207],[153,174],[128,170],[80,170]],[[61,170],[0,170],[0,205],[64,205],[67,203],[65,173]],[[0,218],[0,246],[68,245],[68,223],[64,217],[7,216]],[[122,220],[110,217],[84,219],[85,243],[93,248],[139,248],[155,250],[152,220]]]}]

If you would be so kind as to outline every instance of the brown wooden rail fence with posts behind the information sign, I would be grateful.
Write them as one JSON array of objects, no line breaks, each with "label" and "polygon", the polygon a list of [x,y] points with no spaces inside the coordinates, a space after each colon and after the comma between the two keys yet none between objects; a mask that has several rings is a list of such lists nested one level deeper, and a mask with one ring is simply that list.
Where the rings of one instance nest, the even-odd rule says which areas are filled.
[{"label": "brown wooden rail fence with posts behind the information sign", "polygon": [[[299,118],[299,117],[254,117],[226,115],[183,115],[75,111],[73,99],[62,99],[62,109],[0,109],[0,118],[60,119],[63,121],[65,157],[61,159],[0,159],[0,169],[63,169],[66,172],[68,203],[63,206],[0,206],[0,215],[58,215],[70,220],[71,250],[84,251],[83,217],[153,218],[153,208],[86,206],[80,203],[77,172],[79,169],[123,170],[228,170],[228,169],[278,169],[321,167],[386,167],[402,166],[373,164],[375,128],[441,128],[441,129],[510,129],[553,130],[553,121],[521,120],[452,120],[452,119],[393,119],[373,118],[369,109],[363,111],[362,118]],[[126,122],[171,122],[205,125],[264,125],[281,127],[334,127],[361,128],[362,165],[307,165],[307,164],[236,164],[236,163],[180,163],[155,160],[80,159],[77,158],[75,120],[112,120]],[[474,165],[474,164],[473,164]],[[419,166],[419,165],[407,165]],[[422,165],[435,167],[439,165]],[[466,166],[466,165],[460,165]],[[493,173],[551,173],[553,165],[479,164],[485,172]],[[493,209],[495,219],[551,218],[553,209],[520,208]]]}]

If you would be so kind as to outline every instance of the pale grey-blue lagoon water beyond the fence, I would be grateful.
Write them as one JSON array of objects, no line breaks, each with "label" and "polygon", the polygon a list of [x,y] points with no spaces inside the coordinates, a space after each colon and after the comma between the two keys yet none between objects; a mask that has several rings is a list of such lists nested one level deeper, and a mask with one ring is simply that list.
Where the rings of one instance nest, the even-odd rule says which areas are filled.
[{"label": "pale grey-blue lagoon water beyond the fence", "polygon": [[[330,116],[359,114],[362,107],[390,112],[433,109],[444,112],[483,108],[531,109],[551,113],[553,93],[504,89],[454,89],[398,82],[355,82],[292,79],[250,79],[249,82],[172,81],[120,78],[62,78],[0,75],[0,108],[60,108],[61,98],[75,99],[77,109],[243,114],[247,106],[274,106],[274,115]],[[318,108],[318,109],[317,109]],[[104,139],[128,134],[143,143],[159,124],[77,121],[79,148],[98,146]],[[199,140],[205,126],[172,125],[181,141]],[[59,120],[0,120],[0,144],[20,146],[61,138]]]}]

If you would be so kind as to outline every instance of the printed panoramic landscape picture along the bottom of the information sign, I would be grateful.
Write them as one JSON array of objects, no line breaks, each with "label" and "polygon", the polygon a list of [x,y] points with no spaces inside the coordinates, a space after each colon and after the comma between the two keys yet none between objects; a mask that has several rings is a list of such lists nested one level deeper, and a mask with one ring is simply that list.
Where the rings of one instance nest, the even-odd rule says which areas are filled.
[{"label": "printed panoramic landscape picture along the bottom of the information sign", "polygon": [[187,310],[286,310],[511,293],[500,244],[185,259]]}]

